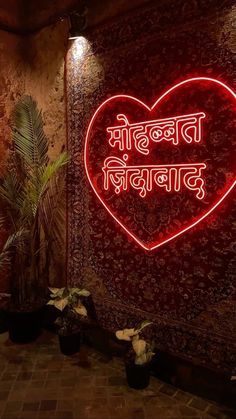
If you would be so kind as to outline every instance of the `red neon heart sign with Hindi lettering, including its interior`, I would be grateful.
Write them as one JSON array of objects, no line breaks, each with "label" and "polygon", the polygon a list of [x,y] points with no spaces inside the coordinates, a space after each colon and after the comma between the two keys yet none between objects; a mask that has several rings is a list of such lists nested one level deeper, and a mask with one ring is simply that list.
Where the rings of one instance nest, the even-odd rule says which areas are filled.
[{"label": "red neon heart sign with Hindi lettering, including its interior", "polygon": [[152,107],[117,95],[94,113],[84,150],[89,182],[142,248],[192,229],[233,189],[235,99],[223,82],[196,77]]}]

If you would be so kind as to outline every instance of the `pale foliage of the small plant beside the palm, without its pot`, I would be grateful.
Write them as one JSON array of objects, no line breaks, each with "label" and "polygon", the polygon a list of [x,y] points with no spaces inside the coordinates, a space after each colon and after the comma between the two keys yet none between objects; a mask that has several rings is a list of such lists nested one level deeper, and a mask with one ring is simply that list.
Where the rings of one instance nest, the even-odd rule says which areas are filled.
[{"label": "pale foliage of the small plant beside the palm, without its pot", "polygon": [[79,316],[86,317],[87,310],[82,299],[88,297],[90,292],[81,288],[49,288],[51,300],[47,304],[53,305],[61,311],[56,324],[59,334],[73,334],[79,329]]}]

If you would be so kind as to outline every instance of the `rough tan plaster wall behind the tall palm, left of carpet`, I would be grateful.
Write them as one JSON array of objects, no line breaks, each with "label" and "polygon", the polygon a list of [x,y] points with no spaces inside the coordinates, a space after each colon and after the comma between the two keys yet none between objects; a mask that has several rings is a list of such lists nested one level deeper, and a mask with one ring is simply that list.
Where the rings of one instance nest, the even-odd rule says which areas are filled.
[{"label": "rough tan plaster wall behind the tall palm, left of carpet", "polygon": [[[0,171],[5,168],[11,130],[9,117],[22,94],[29,94],[43,111],[50,158],[66,144],[64,100],[64,57],[67,50],[66,22],[38,34],[20,38],[1,32],[0,36]],[[65,261],[60,258],[52,281],[64,281]],[[1,290],[7,283],[1,281]]]}]

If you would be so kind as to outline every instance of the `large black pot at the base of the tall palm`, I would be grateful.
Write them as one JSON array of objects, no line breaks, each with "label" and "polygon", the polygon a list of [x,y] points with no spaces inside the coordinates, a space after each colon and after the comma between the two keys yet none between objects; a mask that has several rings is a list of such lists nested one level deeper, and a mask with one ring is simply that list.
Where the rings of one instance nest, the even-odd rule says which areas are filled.
[{"label": "large black pot at the base of the tall palm", "polygon": [[14,343],[32,342],[40,334],[40,310],[8,312],[9,338]]}]

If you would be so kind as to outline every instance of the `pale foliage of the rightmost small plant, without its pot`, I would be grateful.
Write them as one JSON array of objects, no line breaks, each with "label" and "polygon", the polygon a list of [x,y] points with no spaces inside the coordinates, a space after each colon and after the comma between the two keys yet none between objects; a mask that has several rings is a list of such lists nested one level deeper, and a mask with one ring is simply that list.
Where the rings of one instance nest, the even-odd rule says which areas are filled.
[{"label": "pale foliage of the rightmost small plant, without its pot", "polygon": [[127,353],[128,361],[133,361],[136,365],[143,365],[151,361],[154,352],[153,345],[139,337],[140,332],[147,326],[152,324],[148,320],[144,320],[135,329],[123,329],[116,332],[117,339],[131,342],[132,348]]}]

